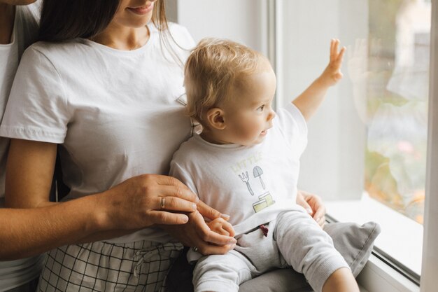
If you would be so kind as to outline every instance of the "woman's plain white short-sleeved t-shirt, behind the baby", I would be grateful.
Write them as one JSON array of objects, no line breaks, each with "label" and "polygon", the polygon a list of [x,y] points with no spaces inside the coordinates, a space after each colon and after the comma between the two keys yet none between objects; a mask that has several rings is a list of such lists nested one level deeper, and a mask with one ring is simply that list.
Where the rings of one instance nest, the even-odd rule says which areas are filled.
[{"label": "woman's plain white short-sleeved t-shirt, behind the baby", "polygon": [[[139,174],[168,174],[178,146],[192,125],[178,102],[185,90],[183,66],[195,43],[169,24],[175,39],[150,39],[136,50],[115,50],[87,39],[38,42],[22,57],[0,135],[61,144],[66,200],[104,190]],[[169,50],[169,47],[172,50]],[[129,200],[129,198],[127,199]],[[109,240],[167,242],[146,228]]]}]

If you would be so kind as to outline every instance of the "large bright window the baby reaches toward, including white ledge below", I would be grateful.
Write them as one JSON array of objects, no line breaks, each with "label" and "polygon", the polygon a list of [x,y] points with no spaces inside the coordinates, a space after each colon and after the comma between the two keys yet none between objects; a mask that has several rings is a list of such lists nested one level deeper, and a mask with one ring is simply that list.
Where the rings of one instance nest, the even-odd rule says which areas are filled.
[{"label": "large bright window the baby reaches toward, including white ledge below", "polygon": [[309,121],[300,188],[321,195],[340,221],[378,221],[376,247],[419,282],[431,159],[431,2],[275,3],[278,104],[323,71],[330,39],[347,47],[343,80]]}]

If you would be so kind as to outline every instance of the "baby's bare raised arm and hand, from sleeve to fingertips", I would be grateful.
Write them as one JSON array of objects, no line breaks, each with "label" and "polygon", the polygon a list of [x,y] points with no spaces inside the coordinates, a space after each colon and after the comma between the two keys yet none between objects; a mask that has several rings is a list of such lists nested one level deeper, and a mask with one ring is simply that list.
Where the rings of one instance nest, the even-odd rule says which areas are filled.
[{"label": "baby's bare raised arm and hand, from sleeve to fingertips", "polygon": [[342,78],[341,65],[346,48],[339,48],[339,40],[332,39],[330,43],[330,62],[318,78],[299,95],[292,103],[297,106],[306,120],[315,113],[325,97],[330,86],[335,85]]}]

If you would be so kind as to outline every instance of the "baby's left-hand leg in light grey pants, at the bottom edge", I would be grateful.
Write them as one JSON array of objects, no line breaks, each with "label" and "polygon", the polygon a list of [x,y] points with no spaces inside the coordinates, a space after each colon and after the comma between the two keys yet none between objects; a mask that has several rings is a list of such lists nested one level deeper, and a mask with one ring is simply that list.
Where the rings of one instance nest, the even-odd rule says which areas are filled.
[{"label": "baby's left-hand leg in light grey pants, at the bottom edge", "polygon": [[237,251],[200,258],[193,271],[195,292],[239,291],[239,284],[251,279],[251,263]]}]

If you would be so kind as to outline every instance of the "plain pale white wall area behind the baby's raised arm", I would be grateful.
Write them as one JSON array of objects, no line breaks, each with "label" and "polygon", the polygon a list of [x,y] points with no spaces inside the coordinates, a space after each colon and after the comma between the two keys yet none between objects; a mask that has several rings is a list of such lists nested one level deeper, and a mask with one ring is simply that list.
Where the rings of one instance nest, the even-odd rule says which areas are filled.
[{"label": "plain pale white wall area behind the baby's raised arm", "polygon": [[[322,73],[330,56],[330,39],[341,46],[367,37],[367,0],[283,1],[283,104],[297,97]],[[345,24],[355,23],[355,27]],[[326,200],[362,194],[365,125],[353,104],[348,78],[327,92],[325,102],[309,120],[309,144],[302,156],[299,188]],[[286,66],[287,64],[287,66]]]}]

